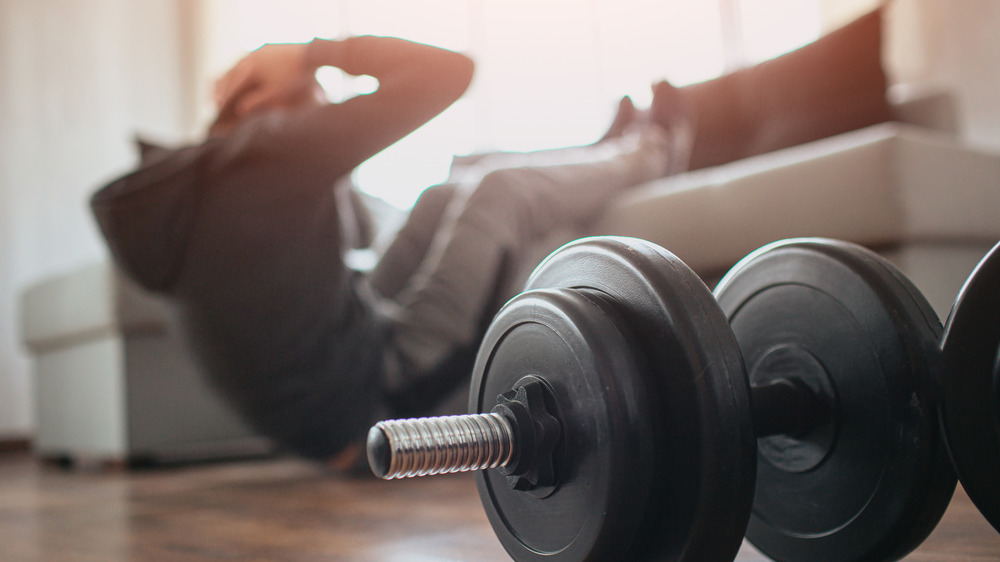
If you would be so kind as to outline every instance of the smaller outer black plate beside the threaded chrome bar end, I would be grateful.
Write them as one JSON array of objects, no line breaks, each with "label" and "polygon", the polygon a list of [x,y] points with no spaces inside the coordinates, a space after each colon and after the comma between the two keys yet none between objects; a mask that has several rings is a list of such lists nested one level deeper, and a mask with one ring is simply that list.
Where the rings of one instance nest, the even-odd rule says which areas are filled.
[{"label": "smaller outer black plate beside the threaded chrome bar end", "polygon": [[532,291],[500,312],[481,348],[472,411],[489,411],[499,394],[535,375],[551,389],[550,409],[563,429],[551,494],[511,490],[497,471],[477,475],[494,531],[515,560],[614,559],[629,548],[639,523],[631,511],[641,501],[637,488],[652,479],[652,449],[643,442],[650,421],[644,367],[616,315],[597,294]]}]

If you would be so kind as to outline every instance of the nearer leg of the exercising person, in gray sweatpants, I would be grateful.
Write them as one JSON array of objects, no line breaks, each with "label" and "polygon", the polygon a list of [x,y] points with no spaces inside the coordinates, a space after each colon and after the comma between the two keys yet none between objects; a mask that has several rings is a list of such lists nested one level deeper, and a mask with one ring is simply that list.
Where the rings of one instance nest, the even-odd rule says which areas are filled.
[{"label": "nearer leg of the exercising person, in gray sweatpants", "polygon": [[397,299],[385,385],[404,392],[478,337],[505,261],[553,229],[593,218],[624,189],[671,168],[670,136],[650,127],[601,143],[590,160],[500,169],[469,194]]}]

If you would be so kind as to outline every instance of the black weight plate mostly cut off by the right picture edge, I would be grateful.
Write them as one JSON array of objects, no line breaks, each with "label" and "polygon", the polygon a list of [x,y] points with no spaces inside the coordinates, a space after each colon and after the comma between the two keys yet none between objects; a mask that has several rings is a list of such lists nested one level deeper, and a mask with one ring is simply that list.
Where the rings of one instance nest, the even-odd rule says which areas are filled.
[{"label": "black weight plate mostly cut off by the right picture edge", "polygon": [[959,292],[941,347],[948,450],[962,487],[1000,531],[1000,244]]}]

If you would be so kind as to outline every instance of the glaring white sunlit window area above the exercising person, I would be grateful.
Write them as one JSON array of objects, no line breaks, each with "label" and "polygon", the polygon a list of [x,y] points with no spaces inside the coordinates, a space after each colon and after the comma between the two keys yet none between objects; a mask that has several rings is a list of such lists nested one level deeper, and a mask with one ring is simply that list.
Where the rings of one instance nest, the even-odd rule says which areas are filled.
[{"label": "glaring white sunlit window area above the exercising person", "polygon": [[[706,80],[787,52],[821,33],[821,0],[216,0],[205,71],[219,74],[268,42],[374,34],[470,55],[467,95],[363,164],[358,186],[408,207],[443,181],[452,155],[580,145],[599,138],[629,95]],[[331,99],[373,79],[320,75]],[[199,109],[203,120],[211,106]]]}]

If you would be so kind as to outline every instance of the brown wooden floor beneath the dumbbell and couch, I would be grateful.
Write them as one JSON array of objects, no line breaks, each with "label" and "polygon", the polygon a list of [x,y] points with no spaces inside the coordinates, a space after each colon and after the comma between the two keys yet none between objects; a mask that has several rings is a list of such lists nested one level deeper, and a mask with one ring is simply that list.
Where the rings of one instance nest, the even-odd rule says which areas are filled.
[{"label": "brown wooden floor beneath the dumbbell and couch", "polygon": [[[0,560],[508,560],[468,475],[347,479],[297,460],[67,471],[0,455]],[[739,560],[765,560],[745,546]],[[959,490],[907,560],[1000,560]]]}]

